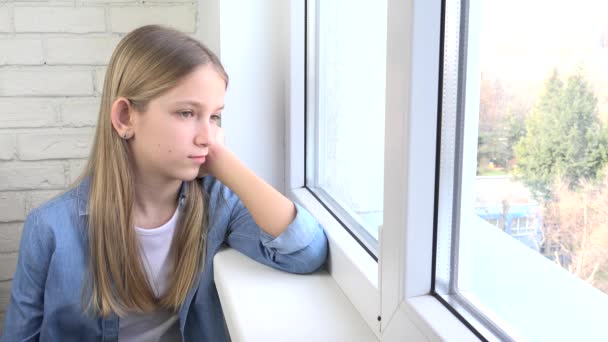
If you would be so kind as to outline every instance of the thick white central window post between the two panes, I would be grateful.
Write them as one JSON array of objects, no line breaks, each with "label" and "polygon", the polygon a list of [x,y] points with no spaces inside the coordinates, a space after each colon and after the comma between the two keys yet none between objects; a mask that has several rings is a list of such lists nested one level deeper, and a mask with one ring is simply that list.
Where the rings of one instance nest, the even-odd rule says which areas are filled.
[{"label": "thick white central window post between the two panes", "polygon": [[441,6],[388,1],[382,331],[408,336],[409,318],[429,340],[478,340],[431,295]]}]

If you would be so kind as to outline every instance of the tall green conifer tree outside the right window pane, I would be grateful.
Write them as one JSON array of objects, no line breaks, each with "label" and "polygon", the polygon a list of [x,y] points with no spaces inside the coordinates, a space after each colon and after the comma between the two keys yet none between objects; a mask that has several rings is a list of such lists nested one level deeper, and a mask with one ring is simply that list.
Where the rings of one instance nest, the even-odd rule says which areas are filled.
[{"label": "tall green conifer tree outside the right window pane", "polygon": [[605,133],[582,70],[565,85],[554,70],[515,146],[516,175],[537,198],[550,199],[558,179],[576,189],[583,179],[597,179],[608,159]]}]

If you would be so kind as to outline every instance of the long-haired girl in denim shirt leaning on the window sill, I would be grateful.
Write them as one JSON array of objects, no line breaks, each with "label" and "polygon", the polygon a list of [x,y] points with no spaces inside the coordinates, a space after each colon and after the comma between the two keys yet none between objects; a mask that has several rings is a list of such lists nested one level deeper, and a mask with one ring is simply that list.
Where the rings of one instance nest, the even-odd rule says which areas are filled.
[{"label": "long-haired girl in denim shirt leaning on the window sill", "polygon": [[226,341],[223,243],[288,272],[325,262],[319,224],[223,145],[227,85],[185,34],[122,39],[83,176],[25,221],[3,341]]}]

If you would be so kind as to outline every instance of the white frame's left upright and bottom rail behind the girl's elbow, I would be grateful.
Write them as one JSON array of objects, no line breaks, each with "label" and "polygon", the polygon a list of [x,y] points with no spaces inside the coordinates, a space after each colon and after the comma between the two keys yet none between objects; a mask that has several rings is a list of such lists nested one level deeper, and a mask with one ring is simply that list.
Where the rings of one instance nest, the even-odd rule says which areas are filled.
[{"label": "white frame's left upright and bottom rail behind the girl's elbow", "polygon": [[330,244],[328,272],[380,339],[378,264],[305,188],[306,1],[290,0],[289,6],[285,189],[324,226]]}]

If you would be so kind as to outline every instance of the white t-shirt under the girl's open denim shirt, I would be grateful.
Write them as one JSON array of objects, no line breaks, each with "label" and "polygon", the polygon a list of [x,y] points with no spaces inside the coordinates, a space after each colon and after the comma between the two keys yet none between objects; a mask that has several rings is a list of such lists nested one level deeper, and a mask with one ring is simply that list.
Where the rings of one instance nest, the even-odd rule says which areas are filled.
[{"label": "white t-shirt under the girl's open denim shirt", "polygon": [[[152,289],[157,297],[160,297],[168,286],[168,275],[172,267],[169,252],[179,216],[178,209],[167,223],[158,228],[135,227],[141,247],[140,257],[148,278],[152,280]],[[129,314],[120,319],[118,340],[121,342],[181,341],[177,315],[167,311]]]}]

